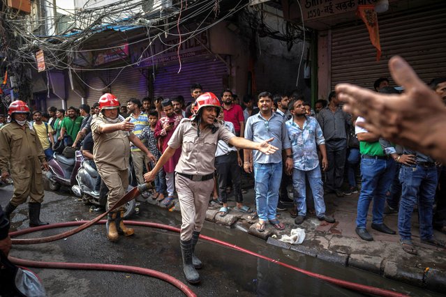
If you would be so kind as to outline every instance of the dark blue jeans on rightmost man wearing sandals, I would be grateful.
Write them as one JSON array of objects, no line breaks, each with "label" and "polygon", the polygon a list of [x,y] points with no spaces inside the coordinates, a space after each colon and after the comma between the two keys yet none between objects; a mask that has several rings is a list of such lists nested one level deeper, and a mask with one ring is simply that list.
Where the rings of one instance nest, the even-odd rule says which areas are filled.
[{"label": "dark blue jeans on rightmost man wearing sandals", "polygon": [[419,237],[424,240],[431,239],[433,199],[438,183],[436,167],[401,165],[399,181],[402,186],[398,213],[399,236],[402,240],[410,241],[412,236],[410,218],[412,218],[413,206],[418,203]]}]

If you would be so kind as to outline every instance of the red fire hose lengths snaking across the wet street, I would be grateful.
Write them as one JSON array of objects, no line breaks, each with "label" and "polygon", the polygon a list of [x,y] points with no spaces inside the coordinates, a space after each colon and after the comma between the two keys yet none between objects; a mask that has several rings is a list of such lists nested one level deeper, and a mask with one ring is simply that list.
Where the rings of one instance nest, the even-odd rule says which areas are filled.
[{"label": "red fire hose lengths snaking across the wet street", "polygon": [[[71,236],[73,234],[76,234],[84,229],[87,229],[93,224],[105,224],[105,220],[101,220],[101,218],[105,217],[110,211],[113,211],[114,209],[118,208],[119,206],[125,204],[127,201],[131,201],[134,199],[137,195],[139,195],[140,192],[144,192],[147,190],[147,185],[138,185],[137,187],[133,188],[131,191],[129,191],[124,197],[122,197],[119,201],[117,201],[112,208],[110,208],[107,212],[98,215],[98,217],[94,218],[91,221],[88,222],[62,222],[57,224],[49,224],[44,225],[40,227],[33,227],[28,229],[22,229],[20,231],[14,231],[10,232],[10,237],[13,238],[15,236],[20,236],[23,234],[29,234],[31,232],[35,231],[41,231],[45,229],[54,229],[54,228],[61,228],[61,227],[73,227],[73,226],[79,226],[75,229],[71,229],[69,231],[66,231],[61,234],[53,235],[53,236],[47,236],[43,238],[27,238],[27,239],[17,239],[13,238],[13,244],[16,245],[29,245],[29,244],[35,244],[35,243],[48,243],[51,241],[57,241],[61,238],[66,238],[68,236]],[[166,224],[159,224],[154,222],[138,222],[138,221],[124,221],[126,224],[134,225],[134,226],[142,226],[142,227],[151,227],[156,229],[164,229],[168,231],[174,231],[179,233],[180,229],[177,227],[172,227]],[[269,261],[275,264],[278,264],[280,266],[289,268],[293,271],[297,271],[299,273],[302,273],[304,275],[308,275],[310,277],[314,277],[318,280],[323,280],[325,282],[329,282],[330,284],[335,284],[339,287],[343,287],[345,289],[351,289],[354,291],[359,291],[364,294],[374,294],[377,296],[407,296],[405,294],[401,294],[399,292],[390,291],[387,289],[380,289],[377,287],[368,286],[365,284],[357,284],[355,282],[349,282],[346,280],[339,280],[336,277],[329,277],[327,275],[321,275],[319,273],[313,273],[311,271],[306,271],[305,269],[298,268],[296,266],[292,266],[289,264],[285,264],[281,261],[266,257],[262,254],[258,254],[256,252],[252,252],[251,250],[246,250],[244,248],[240,248],[237,245],[233,245],[231,243],[227,243],[225,241],[220,241],[216,238],[205,236],[200,234],[200,238],[204,239],[205,241],[209,241],[211,243],[216,243],[218,245],[222,245],[227,248],[232,248],[233,250],[237,250],[239,252],[244,252],[245,254],[251,254],[254,257],[258,257],[260,259],[264,259],[265,261]],[[61,269],[84,269],[84,270],[99,270],[99,271],[122,271],[127,273],[137,273],[142,275],[148,275],[151,277],[157,277],[158,279],[164,280],[165,282],[168,282],[181,291],[184,292],[186,296],[196,296],[193,291],[186,286],[183,282],[175,279],[174,277],[167,275],[165,273],[161,273],[159,271],[153,271],[151,269],[147,268],[140,268],[140,267],[134,267],[134,266],[122,266],[122,265],[111,265],[111,264],[84,264],[84,263],[59,263],[59,262],[39,262],[39,261],[29,261],[29,260],[22,260],[17,259],[14,257],[9,257],[10,261],[12,261],[14,264],[22,265],[22,266],[31,266],[31,267],[39,267],[39,268],[61,268]]]}]

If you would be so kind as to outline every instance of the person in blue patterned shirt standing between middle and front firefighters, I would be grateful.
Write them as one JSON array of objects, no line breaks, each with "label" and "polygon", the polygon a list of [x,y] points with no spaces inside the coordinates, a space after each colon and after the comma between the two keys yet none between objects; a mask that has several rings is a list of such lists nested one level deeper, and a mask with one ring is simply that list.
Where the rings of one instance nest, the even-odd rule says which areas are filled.
[{"label": "person in blue patterned shirt standing between middle and front firefighters", "polygon": [[[149,112],[149,123],[137,137],[141,140],[146,139],[146,146],[149,148],[149,151],[155,156],[156,160],[161,157],[161,152],[158,150],[158,139],[155,137],[155,128],[156,123],[158,122],[158,112],[156,110],[152,110]],[[150,162],[150,167],[147,170],[151,170],[155,167],[154,162]],[[153,199],[158,199],[161,201],[164,199],[164,191],[165,191],[165,173],[163,168],[160,169],[158,174],[155,177],[155,195],[152,197]]]}]

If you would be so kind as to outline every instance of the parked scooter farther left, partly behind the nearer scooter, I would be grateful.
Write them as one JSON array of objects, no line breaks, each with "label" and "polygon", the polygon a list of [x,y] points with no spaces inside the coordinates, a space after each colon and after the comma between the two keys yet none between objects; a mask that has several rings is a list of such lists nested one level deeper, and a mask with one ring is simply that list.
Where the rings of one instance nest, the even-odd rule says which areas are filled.
[{"label": "parked scooter farther left, partly behind the nearer scooter", "polygon": [[66,158],[62,154],[54,153],[53,158],[48,162],[50,170],[47,171],[47,178],[50,180],[50,189],[57,191],[61,185],[68,187],[75,185],[77,170],[83,159],[81,151],[75,152],[75,158]]}]

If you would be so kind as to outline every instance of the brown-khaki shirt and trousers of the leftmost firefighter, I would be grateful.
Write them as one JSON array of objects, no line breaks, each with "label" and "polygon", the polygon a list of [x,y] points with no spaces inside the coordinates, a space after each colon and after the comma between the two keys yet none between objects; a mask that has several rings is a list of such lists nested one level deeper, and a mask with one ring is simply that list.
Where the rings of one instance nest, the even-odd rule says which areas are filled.
[{"label": "brown-khaki shirt and trousers of the leftmost firefighter", "polygon": [[18,206],[27,201],[42,203],[43,179],[41,163],[47,162],[36,131],[27,122],[22,126],[15,121],[0,129],[0,169],[8,171],[14,183],[10,204]]}]

